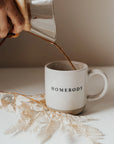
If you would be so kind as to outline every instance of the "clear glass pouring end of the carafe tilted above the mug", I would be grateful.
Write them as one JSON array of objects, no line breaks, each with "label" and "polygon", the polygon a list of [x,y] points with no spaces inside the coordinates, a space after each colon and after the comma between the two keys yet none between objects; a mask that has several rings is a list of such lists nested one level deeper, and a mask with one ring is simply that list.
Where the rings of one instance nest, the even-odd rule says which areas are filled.
[{"label": "clear glass pouring end of the carafe tilted above the mug", "polygon": [[56,23],[53,0],[30,0],[30,32],[54,42]]}]

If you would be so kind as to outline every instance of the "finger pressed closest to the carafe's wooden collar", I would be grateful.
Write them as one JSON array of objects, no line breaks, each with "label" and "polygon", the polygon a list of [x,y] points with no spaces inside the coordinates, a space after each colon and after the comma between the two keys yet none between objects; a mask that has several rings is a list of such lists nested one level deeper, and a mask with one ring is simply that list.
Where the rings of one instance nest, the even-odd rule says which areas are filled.
[{"label": "finger pressed closest to the carafe's wooden collar", "polygon": [[19,12],[13,0],[8,0],[6,5],[6,11],[8,17],[11,19],[14,25],[13,33],[20,33],[24,29],[24,18]]}]

